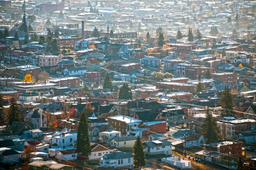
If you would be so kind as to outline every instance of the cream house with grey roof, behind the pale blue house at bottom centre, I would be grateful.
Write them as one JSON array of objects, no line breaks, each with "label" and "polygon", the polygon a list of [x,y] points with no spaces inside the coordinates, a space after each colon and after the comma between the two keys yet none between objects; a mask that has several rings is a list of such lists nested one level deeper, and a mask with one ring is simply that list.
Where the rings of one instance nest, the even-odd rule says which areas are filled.
[{"label": "cream house with grey roof, behind the pale blue house at bottom centre", "polygon": [[133,136],[114,136],[113,139],[110,141],[111,147],[133,147],[135,144],[136,138]]}]

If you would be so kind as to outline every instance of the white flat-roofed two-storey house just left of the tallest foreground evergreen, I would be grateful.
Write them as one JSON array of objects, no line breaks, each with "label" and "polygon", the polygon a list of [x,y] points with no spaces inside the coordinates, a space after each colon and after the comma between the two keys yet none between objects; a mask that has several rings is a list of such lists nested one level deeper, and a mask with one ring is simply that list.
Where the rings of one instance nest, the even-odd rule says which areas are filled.
[{"label": "white flat-roofed two-storey house just left of the tallest foreground evergreen", "polygon": [[69,132],[62,134],[57,134],[56,136],[53,135],[52,137],[52,145],[57,144],[59,148],[65,148],[66,146],[69,146],[72,144],[73,141],[76,141],[77,139],[77,133]]}]

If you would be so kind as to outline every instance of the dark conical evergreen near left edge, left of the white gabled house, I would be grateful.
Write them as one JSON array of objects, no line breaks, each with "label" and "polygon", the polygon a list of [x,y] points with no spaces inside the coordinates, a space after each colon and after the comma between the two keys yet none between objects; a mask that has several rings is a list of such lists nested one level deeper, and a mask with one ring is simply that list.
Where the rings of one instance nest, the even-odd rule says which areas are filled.
[{"label": "dark conical evergreen near left edge, left of the white gabled house", "polygon": [[12,97],[10,101],[9,113],[8,113],[8,124],[11,125],[12,122],[21,122],[21,112],[19,110],[19,106],[16,102],[17,100]]}]

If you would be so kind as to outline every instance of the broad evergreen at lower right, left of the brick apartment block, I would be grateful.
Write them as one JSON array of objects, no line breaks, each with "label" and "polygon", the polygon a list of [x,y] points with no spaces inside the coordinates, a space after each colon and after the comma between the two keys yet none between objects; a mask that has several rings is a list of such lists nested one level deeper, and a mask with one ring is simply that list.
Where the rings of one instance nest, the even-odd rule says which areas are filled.
[{"label": "broad evergreen at lower right, left of the brick apartment block", "polygon": [[220,129],[217,125],[215,117],[213,117],[209,112],[209,107],[207,107],[205,119],[201,127],[203,130],[203,136],[205,139],[207,139],[207,142],[214,142],[219,139]]}]

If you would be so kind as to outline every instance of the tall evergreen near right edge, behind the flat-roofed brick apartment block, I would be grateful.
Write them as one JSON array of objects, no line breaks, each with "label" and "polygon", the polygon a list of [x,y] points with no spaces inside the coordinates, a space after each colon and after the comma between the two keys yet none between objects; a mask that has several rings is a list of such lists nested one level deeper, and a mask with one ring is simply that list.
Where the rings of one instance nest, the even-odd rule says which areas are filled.
[{"label": "tall evergreen near right edge, behind the flat-roofed brick apartment block", "polygon": [[229,86],[225,86],[225,89],[222,92],[222,95],[220,97],[220,105],[222,108],[221,109],[222,117],[235,115],[235,112],[233,111],[233,107],[235,104],[234,104],[233,96],[231,94],[231,90],[229,89]]}]

